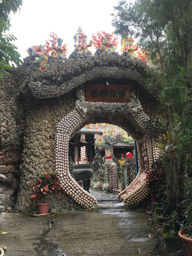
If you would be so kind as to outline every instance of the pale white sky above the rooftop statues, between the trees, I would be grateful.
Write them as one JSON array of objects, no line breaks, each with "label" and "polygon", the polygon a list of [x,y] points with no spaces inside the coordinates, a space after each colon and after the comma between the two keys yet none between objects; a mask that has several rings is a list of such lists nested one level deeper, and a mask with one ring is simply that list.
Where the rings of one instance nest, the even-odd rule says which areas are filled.
[{"label": "pale white sky above the rooftop statues, between the trees", "polygon": [[[73,36],[78,26],[87,35],[90,42],[92,35],[98,31],[111,33],[113,6],[118,0],[23,0],[23,5],[14,15],[10,15],[11,28],[9,34],[14,34],[18,40],[13,42],[18,47],[21,58],[28,56],[26,50],[30,46],[44,45],[51,32],[68,44],[68,56],[74,50]],[[119,38],[120,40],[120,38]],[[89,48],[92,53],[95,48]],[[120,54],[120,42],[118,47]]]}]

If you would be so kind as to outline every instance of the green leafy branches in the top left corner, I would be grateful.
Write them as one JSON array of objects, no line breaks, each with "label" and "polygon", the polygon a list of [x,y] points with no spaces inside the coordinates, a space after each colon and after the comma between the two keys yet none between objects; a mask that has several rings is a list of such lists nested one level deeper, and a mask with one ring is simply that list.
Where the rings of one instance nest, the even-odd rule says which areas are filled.
[{"label": "green leafy branches in the top left corner", "polygon": [[[6,34],[11,26],[10,24],[10,12],[20,10],[22,0],[2,0],[0,1],[0,73],[5,73],[7,76],[9,73],[6,71],[11,66],[9,61],[15,62],[16,65],[22,63],[20,60],[20,54],[16,51],[17,47],[12,44],[17,38],[14,35]],[[0,74],[0,79],[2,76]]]}]

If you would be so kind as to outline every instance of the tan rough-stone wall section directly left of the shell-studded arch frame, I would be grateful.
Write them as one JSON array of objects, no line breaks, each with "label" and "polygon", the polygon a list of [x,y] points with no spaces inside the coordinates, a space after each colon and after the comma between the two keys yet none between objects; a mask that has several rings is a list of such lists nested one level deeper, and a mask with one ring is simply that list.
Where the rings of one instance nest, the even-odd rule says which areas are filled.
[{"label": "tan rough-stone wall section directly left of the shell-studded arch frame", "polygon": [[[29,185],[34,182],[34,178],[39,173],[55,170],[56,125],[73,107],[74,96],[72,93],[58,99],[44,101],[26,98],[24,102],[26,128],[16,210],[36,210],[36,202],[33,202],[31,198],[34,192]],[[51,208],[68,208],[78,205],[62,190],[58,193],[47,194],[46,201],[50,202]]]}]

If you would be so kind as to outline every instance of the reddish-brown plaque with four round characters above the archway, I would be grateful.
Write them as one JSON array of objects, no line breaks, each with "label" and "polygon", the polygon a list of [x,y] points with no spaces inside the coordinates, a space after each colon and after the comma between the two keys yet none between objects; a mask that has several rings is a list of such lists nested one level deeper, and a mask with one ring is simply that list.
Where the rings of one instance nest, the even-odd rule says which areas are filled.
[{"label": "reddish-brown plaque with four round characters above the archway", "polygon": [[86,84],[86,101],[90,102],[130,102],[131,85]]}]

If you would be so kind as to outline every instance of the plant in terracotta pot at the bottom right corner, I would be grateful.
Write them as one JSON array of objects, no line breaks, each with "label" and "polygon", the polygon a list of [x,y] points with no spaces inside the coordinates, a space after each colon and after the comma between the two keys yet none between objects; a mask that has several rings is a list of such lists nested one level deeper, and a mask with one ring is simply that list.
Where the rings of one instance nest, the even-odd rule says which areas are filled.
[{"label": "plant in terracotta pot at the bottom right corner", "polygon": [[192,182],[185,188],[186,199],[182,202],[184,220],[181,222],[179,237],[184,243],[188,256],[192,256]]}]

